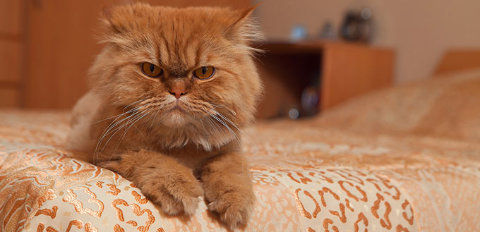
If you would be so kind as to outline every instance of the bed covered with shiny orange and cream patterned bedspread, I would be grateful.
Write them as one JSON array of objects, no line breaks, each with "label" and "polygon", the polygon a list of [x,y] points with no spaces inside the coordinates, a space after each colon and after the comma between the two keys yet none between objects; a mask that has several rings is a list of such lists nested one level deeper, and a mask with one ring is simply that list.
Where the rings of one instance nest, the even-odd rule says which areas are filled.
[{"label": "bed covered with shiny orange and cream patterned bedspread", "polygon": [[[228,231],[166,216],[62,148],[66,111],[0,111],[0,231]],[[480,231],[480,70],[244,130],[256,207],[239,231]]]}]

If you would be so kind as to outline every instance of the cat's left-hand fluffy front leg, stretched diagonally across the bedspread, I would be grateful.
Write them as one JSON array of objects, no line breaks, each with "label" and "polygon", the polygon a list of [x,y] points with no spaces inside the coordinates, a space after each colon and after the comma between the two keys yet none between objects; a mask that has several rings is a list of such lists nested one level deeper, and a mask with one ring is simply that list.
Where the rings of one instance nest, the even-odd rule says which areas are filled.
[{"label": "cat's left-hand fluffy front leg, stretched diagonally across the bedspread", "polygon": [[170,215],[194,214],[203,189],[192,170],[163,154],[140,151],[125,152],[121,159],[100,163],[132,181],[143,195],[160,205]]}]

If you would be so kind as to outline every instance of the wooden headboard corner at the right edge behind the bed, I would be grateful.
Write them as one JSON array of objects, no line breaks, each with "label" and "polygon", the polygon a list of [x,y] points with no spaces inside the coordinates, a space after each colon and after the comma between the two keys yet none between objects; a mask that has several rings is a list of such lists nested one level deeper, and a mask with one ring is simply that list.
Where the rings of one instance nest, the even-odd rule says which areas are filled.
[{"label": "wooden headboard corner at the right edge behind the bed", "polygon": [[480,51],[478,49],[452,50],[443,56],[435,74],[452,73],[472,68],[480,68]]}]

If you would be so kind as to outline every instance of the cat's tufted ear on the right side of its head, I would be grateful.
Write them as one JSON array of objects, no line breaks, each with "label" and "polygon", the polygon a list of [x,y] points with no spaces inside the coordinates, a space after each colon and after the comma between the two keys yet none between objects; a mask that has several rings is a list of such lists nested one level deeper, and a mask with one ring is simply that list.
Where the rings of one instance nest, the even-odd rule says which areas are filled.
[{"label": "cat's tufted ear on the right side of its head", "polygon": [[250,43],[262,40],[263,33],[253,20],[252,13],[259,4],[234,13],[234,18],[227,28],[227,37],[238,42]]}]

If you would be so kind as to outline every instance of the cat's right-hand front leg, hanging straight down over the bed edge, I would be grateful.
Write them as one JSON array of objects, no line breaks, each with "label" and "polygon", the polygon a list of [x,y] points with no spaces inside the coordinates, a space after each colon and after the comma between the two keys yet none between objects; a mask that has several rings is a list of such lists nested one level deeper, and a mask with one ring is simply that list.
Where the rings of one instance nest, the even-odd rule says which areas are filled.
[{"label": "cat's right-hand front leg, hanging straight down over the bed edge", "polygon": [[208,209],[230,228],[246,224],[255,195],[248,165],[241,154],[223,154],[208,161],[201,173]]}]

